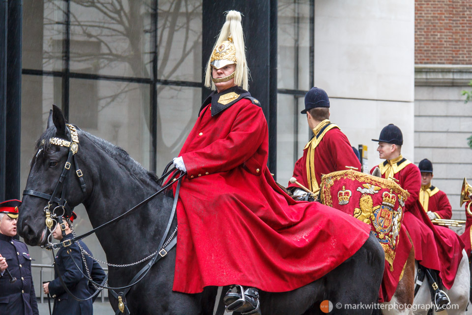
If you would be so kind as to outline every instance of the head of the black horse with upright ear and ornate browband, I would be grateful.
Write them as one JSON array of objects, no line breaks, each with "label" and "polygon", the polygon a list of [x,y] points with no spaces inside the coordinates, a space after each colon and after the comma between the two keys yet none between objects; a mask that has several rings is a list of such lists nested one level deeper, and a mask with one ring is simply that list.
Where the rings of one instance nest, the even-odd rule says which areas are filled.
[{"label": "head of the black horse with upright ear and ornate browband", "polygon": [[[85,198],[73,160],[79,148],[79,144],[76,145],[74,142],[74,138],[77,139],[76,135],[74,127],[71,129],[66,125],[62,112],[53,105],[46,131],[36,143],[18,217],[18,233],[29,245],[44,245],[47,241],[50,231],[45,222],[46,209],[54,219],[54,215],[61,216],[64,209],[69,210]],[[64,173],[67,176],[58,185],[59,178]],[[62,195],[63,189],[65,189],[64,195]],[[49,202],[50,198],[47,196],[53,194],[56,197],[55,201]],[[60,203],[65,199],[66,205],[59,206],[59,199],[62,200]],[[54,221],[52,223],[55,224]]]}]

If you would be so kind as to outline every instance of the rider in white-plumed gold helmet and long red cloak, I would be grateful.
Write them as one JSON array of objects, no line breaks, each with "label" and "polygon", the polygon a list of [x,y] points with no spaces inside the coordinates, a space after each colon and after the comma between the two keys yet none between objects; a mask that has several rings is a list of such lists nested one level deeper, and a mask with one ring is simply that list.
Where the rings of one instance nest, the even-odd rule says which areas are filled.
[{"label": "rider in white-plumed gold helmet and long red cloak", "polygon": [[174,159],[187,176],[177,203],[173,289],[243,285],[227,292],[227,310],[256,314],[256,288],[283,292],[319,279],[365,243],[370,227],[324,205],[296,202],[276,185],[266,166],[266,119],[247,92],[240,21],[239,12],[227,14],[207,65],[206,85],[216,92]]}]

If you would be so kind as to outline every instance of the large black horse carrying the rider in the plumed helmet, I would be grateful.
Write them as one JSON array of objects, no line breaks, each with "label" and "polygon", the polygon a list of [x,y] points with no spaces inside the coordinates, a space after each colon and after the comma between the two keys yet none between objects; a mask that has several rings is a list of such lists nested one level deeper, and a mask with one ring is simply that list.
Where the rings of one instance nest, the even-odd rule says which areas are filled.
[{"label": "large black horse carrying the rider in the plumed helmet", "polygon": [[[71,207],[83,203],[93,227],[118,217],[160,189],[156,176],[130,158],[124,150],[79,128],[77,133],[79,150],[75,158],[85,179],[86,191],[80,188],[72,163],[65,183],[67,203]],[[26,189],[52,194],[68,156],[68,148],[50,145],[49,139],[52,137],[71,139],[62,112],[56,106],[53,106],[46,131],[37,142]],[[155,252],[169,220],[172,203],[172,192],[167,191],[167,194],[157,195],[124,220],[97,231],[107,261],[127,264]],[[43,211],[46,205],[47,200],[43,198],[32,195],[23,197],[18,231],[31,246],[46,243],[49,233]],[[176,226],[175,219],[171,231]],[[176,251],[170,251],[141,282],[130,289],[126,295],[126,305],[131,314],[213,314],[215,299],[220,296],[217,295],[217,287],[206,287],[199,294],[172,291],[175,258]],[[125,268],[110,267],[109,285],[129,284],[145,263]],[[371,236],[352,257],[321,279],[290,292],[261,292],[262,313],[323,314],[320,304],[329,300],[334,307],[331,314],[371,314],[371,308],[365,309],[364,306],[360,309],[360,304],[372,307],[377,302],[383,266],[382,247]],[[221,300],[218,314],[222,314],[224,309]],[[110,303],[116,311],[118,301],[111,294]],[[355,305],[346,309],[346,304]]]}]

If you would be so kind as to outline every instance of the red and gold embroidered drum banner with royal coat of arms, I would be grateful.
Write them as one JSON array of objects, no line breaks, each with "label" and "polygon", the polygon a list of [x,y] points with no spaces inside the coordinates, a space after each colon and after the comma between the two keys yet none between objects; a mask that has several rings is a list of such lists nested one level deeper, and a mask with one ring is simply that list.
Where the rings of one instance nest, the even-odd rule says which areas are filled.
[{"label": "red and gold embroidered drum banner with royal coat of arms", "polygon": [[354,170],[326,174],[320,187],[322,203],[371,226],[393,270],[408,191],[393,181]]}]

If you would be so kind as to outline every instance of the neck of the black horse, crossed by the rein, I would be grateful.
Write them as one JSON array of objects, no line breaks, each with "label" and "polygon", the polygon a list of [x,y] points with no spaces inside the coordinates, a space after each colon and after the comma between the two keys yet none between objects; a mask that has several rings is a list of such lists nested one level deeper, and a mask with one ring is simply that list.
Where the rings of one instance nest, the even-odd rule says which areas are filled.
[{"label": "neck of the black horse, crossed by the rein", "polygon": [[[148,174],[123,167],[105,152],[95,155],[91,162],[96,163],[97,170],[90,172],[93,189],[84,205],[93,227],[117,218],[160,189]],[[165,229],[167,219],[164,218],[168,212],[165,205],[169,204],[167,199],[162,194],[158,195],[133,214],[96,233],[108,261],[129,262],[139,254],[154,249],[154,243],[158,241],[151,241],[150,237],[163,233]],[[138,250],[137,240],[147,242],[139,242]]]}]

